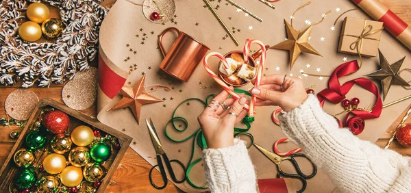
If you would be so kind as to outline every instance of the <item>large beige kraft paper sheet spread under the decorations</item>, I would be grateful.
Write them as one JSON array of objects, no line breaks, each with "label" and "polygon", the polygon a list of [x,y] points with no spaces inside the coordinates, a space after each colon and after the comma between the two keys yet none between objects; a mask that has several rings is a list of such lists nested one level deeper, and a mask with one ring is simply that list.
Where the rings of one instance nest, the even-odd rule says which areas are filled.
[{"label": "large beige kraft paper sheet spread under the decorations", "polygon": [[[142,3],[138,0],[135,1],[136,3]],[[214,7],[219,5],[217,12],[230,29],[232,29],[232,27],[235,28],[236,33],[234,35],[238,38],[241,44],[245,42],[246,38],[256,38],[269,45],[284,41],[284,38],[286,38],[284,18],[289,21],[292,12],[303,3],[306,3],[306,1],[302,0],[279,1],[275,3],[277,9],[272,10],[257,0],[236,0],[236,2],[255,14],[258,14],[264,21],[260,23],[251,16],[245,16],[244,12],[238,12],[234,6],[230,4],[225,5],[225,3],[227,3],[226,1],[213,1],[211,3]],[[166,27],[177,27],[208,45],[212,51],[219,51],[224,54],[228,51],[242,49],[242,45],[236,47],[229,37],[223,38],[226,35],[224,29],[219,25],[218,21],[216,21],[216,18],[214,18],[210,10],[203,7],[203,5],[205,5],[203,1],[176,0],[175,3],[177,10],[176,17],[174,18],[175,23],[169,22],[165,25],[158,25],[147,21],[142,14],[142,8],[140,6],[133,5],[126,0],[118,0],[105,18],[100,31],[101,51],[103,51],[103,54],[108,60],[111,60],[126,72],[129,71],[129,66],[133,66],[134,64],[137,65],[137,69],[132,71],[127,78],[126,83],[130,82],[130,86],[134,86],[134,83],[140,79],[142,73],[145,73],[147,75],[146,86],[154,83],[162,83],[174,88],[171,92],[164,92],[164,90],[160,89],[151,93],[153,96],[160,99],[165,98],[165,101],[164,103],[144,105],[140,116],[140,125],[137,125],[136,120],[134,120],[134,116],[129,109],[106,112],[108,108],[119,101],[121,98],[120,95],[110,102],[108,99],[104,99],[104,102],[101,102],[103,99],[99,99],[99,120],[110,127],[119,129],[119,131],[123,131],[127,135],[132,136],[132,138],[134,138],[131,144],[132,149],[144,157],[150,164],[157,164],[157,162],[155,160],[155,151],[149,138],[147,126],[144,122],[145,118],[153,118],[155,127],[158,128],[160,140],[169,158],[179,159],[186,164],[190,159],[192,140],[183,143],[171,142],[171,140],[166,138],[164,134],[164,127],[167,121],[171,118],[171,114],[175,107],[177,107],[180,102],[184,101],[184,99],[197,97],[205,100],[208,94],[215,94],[221,90],[221,88],[208,77],[202,64],[195,70],[195,74],[191,77],[188,83],[175,81],[165,73],[161,72],[158,65],[163,57],[160,50],[157,49],[157,35]],[[336,66],[343,63],[344,57],[347,57],[348,61],[356,60],[358,57],[355,55],[337,53],[338,37],[343,19],[338,21],[335,26],[335,31],[331,30],[334,20],[338,15],[345,10],[355,7],[356,5],[351,3],[351,1],[346,0],[312,1],[311,5],[297,12],[293,25],[296,29],[304,29],[308,27],[305,23],[306,20],[314,23],[319,21],[321,14],[327,12],[327,10],[332,10],[332,13],[327,15],[327,18],[323,23],[314,27],[309,41],[309,43],[312,44],[323,57],[303,54],[299,57],[294,67],[289,72],[288,51],[270,49],[267,51],[266,60],[266,68],[268,69],[264,70],[264,73],[266,75],[274,73],[283,75],[288,74],[297,77],[300,76],[300,69],[308,73],[316,73],[316,68],[320,68],[321,73],[329,75]],[[340,12],[336,12],[336,8],[339,8]],[[366,14],[360,11],[350,12],[347,16],[369,18]],[[196,23],[198,25],[196,25]],[[151,34],[151,32],[153,34]],[[146,35],[144,36],[144,34]],[[321,37],[325,38],[325,40],[321,41]],[[142,38],[145,38],[145,40],[142,40]],[[175,35],[173,34],[168,34],[164,37],[164,40],[168,40],[164,41],[166,42],[166,47],[171,46],[174,38]],[[144,44],[142,44],[142,42],[144,42]],[[126,44],[129,44],[129,47],[126,47]],[[130,49],[132,49],[132,51],[130,51]],[[253,47],[253,49],[258,48]],[[391,64],[401,59],[403,55],[406,55],[407,57],[403,64],[403,68],[411,67],[409,51],[386,31],[382,33],[379,49],[382,50]],[[134,54],[134,51],[137,51],[137,53]],[[124,60],[127,59],[127,57],[130,59],[125,62]],[[214,70],[217,68],[216,61],[217,60],[210,60],[210,65],[213,66]],[[377,57],[364,58],[364,67],[358,73],[340,79],[340,82],[344,83],[349,79],[372,73],[378,69],[378,61]],[[306,67],[307,64],[310,64],[310,68]],[[408,77],[408,75],[404,76],[405,79],[408,79]],[[316,92],[327,87],[326,77],[322,81],[319,80],[318,77],[302,77],[302,79],[306,87],[315,85],[314,90]],[[204,83],[203,86],[199,85],[199,82]],[[207,86],[207,89],[205,89],[204,86]],[[251,88],[251,85],[244,87],[244,89],[248,88]],[[400,86],[392,86],[384,103],[394,101],[410,94],[410,90],[403,90]],[[366,92],[358,86],[354,86],[351,92],[347,94],[347,99],[353,97],[360,98],[360,107],[367,107],[375,100],[371,93]],[[173,98],[172,101],[171,98]],[[383,110],[380,118],[366,120],[366,128],[358,137],[363,140],[375,142],[381,133],[393,123],[410,102],[411,101],[405,101],[401,104],[387,107]],[[163,105],[165,105],[165,107]],[[271,149],[273,142],[276,140],[284,138],[280,128],[271,120],[271,113],[276,108],[277,107],[258,107],[256,109],[256,122],[252,124],[250,130],[255,141],[267,149]],[[200,114],[202,110],[203,107],[196,102],[190,103],[189,106],[182,105],[181,109],[177,112],[177,116],[184,116],[187,118],[189,128],[182,133],[171,132],[172,136],[174,136],[174,138],[182,139],[195,131],[199,127],[197,123],[197,115]],[[333,105],[326,103],[325,110],[330,114],[336,114],[343,111],[343,107],[339,104]],[[343,118],[343,116],[340,116],[339,118]],[[295,144],[292,143],[280,145],[280,149],[282,150],[290,150],[295,147]],[[181,152],[179,152],[179,150],[181,150]],[[275,178],[277,170],[275,165],[271,163],[269,159],[266,159],[266,157],[254,147],[251,147],[250,155],[253,164],[256,166],[256,172],[259,179]],[[201,152],[198,147],[196,147],[195,157],[201,157]],[[307,172],[310,171],[308,163],[301,162],[301,165],[303,170]],[[290,168],[290,165],[284,167],[284,169],[288,171],[291,171]],[[181,176],[181,173],[177,176]],[[201,165],[197,165],[193,169],[190,177],[197,184],[203,182]],[[191,188],[186,182],[176,185],[178,188],[186,192],[203,191]],[[320,169],[316,177],[308,180],[306,192],[332,192],[334,188],[335,185],[329,177],[327,177],[325,172]]]}]

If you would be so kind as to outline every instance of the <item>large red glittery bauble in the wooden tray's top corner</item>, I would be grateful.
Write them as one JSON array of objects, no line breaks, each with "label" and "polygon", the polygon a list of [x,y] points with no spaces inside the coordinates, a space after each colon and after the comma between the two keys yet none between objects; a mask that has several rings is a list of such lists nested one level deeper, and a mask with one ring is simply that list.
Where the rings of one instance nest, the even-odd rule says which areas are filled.
[{"label": "large red glittery bauble in the wooden tray's top corner", "polygon": [[63,133],[69,128],[70,118],[64,112],[54,110],[45,115],[43,119],[43,125],[51,133],[58,134]]}]

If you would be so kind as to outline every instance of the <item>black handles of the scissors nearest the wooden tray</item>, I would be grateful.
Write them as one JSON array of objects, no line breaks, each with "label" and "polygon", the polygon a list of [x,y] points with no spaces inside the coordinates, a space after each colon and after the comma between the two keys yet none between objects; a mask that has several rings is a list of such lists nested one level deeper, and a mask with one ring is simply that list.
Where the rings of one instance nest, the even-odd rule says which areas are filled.
[{"label": "black handles of the scissors nearest the wooden tray", "polygon": [[[171,160],[169,160],[169,157],[167,157],[167,155],[166,155],[165,153],[164,153],[164,154],[161,154],[161,155],[162,155],[162,157],[163,157],[163,159],[164,159],[164,162],[166,163],[167,170],[169,170],[169,174],[170,174],[171,180],[174,181],[175,183],[183,183],[184,181],[186,181],[186,167],[184,166],[184,164],[183,164],[182,162],[180,162],[179,160],[177,160],[177,159],[171,159]],[[167,181],[167,175],[166,175],[166,170],[165,170],[164,165],[162,164],[162,160],[161,160],[161,155],[157,155],[157,163],[158,163],[158,164],[155,165],[155,166],[153,166],[153,168],[151,168],[151,170],[150,170],[150,172],[149,172],[150,183],[151,183],[151,185],[153,185],[153,187],[154,187],[155,189],[158,189],[158,190],[162,190],[162,189],[166,188],[167,183],[168,183],[168,181]],[[182,180],[178,180],[178,179],[175,177],[174,170],[173,170],[173,168],[172,168],[172,166],[171,166],[171,162],[176,162],[177,164],[179,164],[179,166],[182,167],[183,172],[184,172],[184,177],[183,177]],[[164,185],[162,185],[162,186],[155,185],[155,183],[153,182],[153,179],[152,179],[152,177],[151,177],[151,172],[153,172],[154,168],[157,167],[157,166],[160,168],[160,173],[161,173],[161,176],[162,176],[162,179],[163,179]]]}]

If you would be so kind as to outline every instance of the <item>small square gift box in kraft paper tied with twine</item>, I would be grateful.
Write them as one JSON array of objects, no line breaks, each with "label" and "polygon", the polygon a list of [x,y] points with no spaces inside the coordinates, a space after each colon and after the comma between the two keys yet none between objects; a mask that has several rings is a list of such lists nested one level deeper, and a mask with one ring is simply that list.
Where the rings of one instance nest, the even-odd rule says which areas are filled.
[{"label": "small square gift box in kraft paper tied with twine", "polygon": [[[373,57],[378,53],[383,23],[362,18],[346,17],[341,29],[338,52]],[[360,38],[364,36],[364,38]],[[358,44],[358,50],[355,47]]]}]

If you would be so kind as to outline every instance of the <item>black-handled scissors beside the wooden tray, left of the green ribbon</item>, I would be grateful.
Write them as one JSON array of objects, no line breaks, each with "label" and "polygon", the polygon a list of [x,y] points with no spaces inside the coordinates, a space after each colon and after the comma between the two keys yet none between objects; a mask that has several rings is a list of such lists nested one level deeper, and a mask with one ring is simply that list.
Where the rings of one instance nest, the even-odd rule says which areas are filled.
[{"label": "black-handled scissors beside the wooden tray, left of the green ribbon", "polygon": [[[147,124],[147,127],[149,127],[151,142],[153,142],[153,146],[154,146],[154,149],[155,149],[155,154],[157,156],[157,163],[158,163],[157,165],[153,166],[153,168],[151,168],[151,170],[149,172],[149,179],[150,179],[151,185],[153,185],[153,187],[155,189],[158,189],[158,190],[166,188],[166,186],[167,186],[168,181],[167,181],[166,170],[164,168],[164,165],[162,164],[161,157],[163,157],[164,163],[166,164],[166,167],[167,167],[167,170],[169,170],[171,180],[174,181],[175,183],[183,183],[184,181],[186,181],[186,167],[184,167],[184,164],[182,162],[180,162],[179,160],[177,160],[177,159],[169,160],[169,157],[167,157],[166,153],[162,149],[162,144],[160,143],[160,139],[158,138],[157,131],[155,131],[153,120],[151,120],[151,118],[150,118],[150,122],[149,122],[149,120],[146,119],[146,124]],[[171,167],[171,162],[176,162],[177,164],[179,164],[179,166],[182,167],[182,170],[184,172],[184,178],[182,180],[178,180],[175,177],[173,168]],[[164,182],[164,185],[162,185],[162,186],[155,185],[154,182],[153,182],[153,179],[151,178],[151,172],[153,172],[153,169],[157,166],[160,168],[160,173],[161,173],[161,176],[162,176],[162,179],[163,179],[163,182]]]}]

